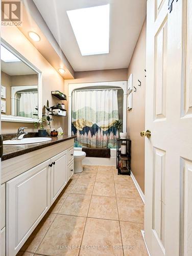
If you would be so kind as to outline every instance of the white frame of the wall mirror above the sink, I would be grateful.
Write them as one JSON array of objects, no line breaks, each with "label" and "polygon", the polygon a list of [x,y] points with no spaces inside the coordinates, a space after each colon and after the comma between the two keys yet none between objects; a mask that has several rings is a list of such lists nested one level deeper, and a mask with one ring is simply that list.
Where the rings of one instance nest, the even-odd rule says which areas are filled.
[{"label": "white frame of the wall mirror above the sink", "polygon": [[12,115],[1,115],[1,121],[3,122],[19,122],[19,123],[34,123],[37,122],[39,118],[42,117],[42,73],[38,70],[28,59],[23,57],[19,52],[17,52],[13,47],[11,47],[4,39],[1,39],[1,45],[7,50],[13,53],[17,58],[26,63],[31,69],[33,69],[38,74],[38,118],[30,117],[20,117]]}]

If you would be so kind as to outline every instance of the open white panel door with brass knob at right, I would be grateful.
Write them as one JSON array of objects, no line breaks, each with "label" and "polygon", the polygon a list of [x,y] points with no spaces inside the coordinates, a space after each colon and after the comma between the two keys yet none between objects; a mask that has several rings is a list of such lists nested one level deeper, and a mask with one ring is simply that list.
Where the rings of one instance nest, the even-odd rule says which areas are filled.
[{"label": "open white panel door with brass knob at right", "polygon": [[[170,10],[168,4],[172,4]],[[192,1],[148,0],[145,239],[192,255]]]}]

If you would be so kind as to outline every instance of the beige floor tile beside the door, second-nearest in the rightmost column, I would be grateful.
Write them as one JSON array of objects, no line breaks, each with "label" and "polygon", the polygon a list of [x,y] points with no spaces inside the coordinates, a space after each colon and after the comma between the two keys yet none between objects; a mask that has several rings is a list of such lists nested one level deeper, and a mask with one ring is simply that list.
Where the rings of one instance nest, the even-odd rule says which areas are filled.
[{"label": "beige floor tile beside the door, second-nearest in the rightmost column", "polygon": [[144,205],[140,199],[116,198],[120,221],[143,223]]}]

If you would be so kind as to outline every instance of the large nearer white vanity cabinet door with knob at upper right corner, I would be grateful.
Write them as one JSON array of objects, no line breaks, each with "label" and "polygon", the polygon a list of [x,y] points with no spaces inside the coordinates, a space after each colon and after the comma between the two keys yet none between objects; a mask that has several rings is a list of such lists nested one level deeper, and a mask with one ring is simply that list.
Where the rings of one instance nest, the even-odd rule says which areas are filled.
[{"label": "large nearer white vanity cabinet door with knob at upper right corner", "polygon": [[50,207],[50,160],[6,183],[6,255],[16,255]]}]

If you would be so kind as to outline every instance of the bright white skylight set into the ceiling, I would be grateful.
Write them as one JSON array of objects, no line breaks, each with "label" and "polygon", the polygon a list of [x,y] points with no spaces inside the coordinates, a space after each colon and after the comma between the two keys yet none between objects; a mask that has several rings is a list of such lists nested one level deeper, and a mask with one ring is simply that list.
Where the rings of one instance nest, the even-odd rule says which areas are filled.
[{"label": "bright white skylight set into the ceiling", "polygon": [[109,53],[109,5],[67,11],[83,56]]}]

